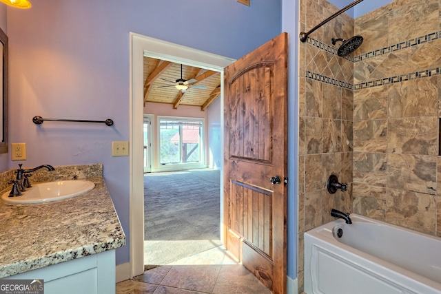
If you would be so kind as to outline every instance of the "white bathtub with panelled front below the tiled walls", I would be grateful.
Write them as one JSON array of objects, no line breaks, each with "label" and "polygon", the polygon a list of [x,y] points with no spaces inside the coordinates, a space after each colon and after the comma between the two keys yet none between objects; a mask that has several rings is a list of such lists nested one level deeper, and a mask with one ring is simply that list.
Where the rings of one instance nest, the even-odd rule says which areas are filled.
[{"label": "white bathtub with panelled front below the tiled walls", "polygon": [[441,294],[441,238],[350,218],[305,233],[305,293]]}]

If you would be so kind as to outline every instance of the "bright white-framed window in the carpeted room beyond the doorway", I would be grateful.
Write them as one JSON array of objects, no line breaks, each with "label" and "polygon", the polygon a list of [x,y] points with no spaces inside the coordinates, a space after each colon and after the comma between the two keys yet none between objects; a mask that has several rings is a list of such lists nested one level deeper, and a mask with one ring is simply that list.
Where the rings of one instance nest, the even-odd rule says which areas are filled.
[{"label": "bright white-framed window in the carpeted room beyond the doorway", "polygon": [[159,118],[160,164],[202,162],[203,120]]}]

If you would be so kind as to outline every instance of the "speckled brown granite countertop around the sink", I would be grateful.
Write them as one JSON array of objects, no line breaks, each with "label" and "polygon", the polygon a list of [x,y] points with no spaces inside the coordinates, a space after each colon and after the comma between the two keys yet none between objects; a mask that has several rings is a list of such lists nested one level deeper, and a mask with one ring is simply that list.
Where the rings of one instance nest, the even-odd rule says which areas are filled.
[{"label": "speckled brown granite countertop around the sink", "polygon": [[0,200],[0,278],[125,245],[103,178],[86,180],[95,188],[74,198],[39,204]]}]

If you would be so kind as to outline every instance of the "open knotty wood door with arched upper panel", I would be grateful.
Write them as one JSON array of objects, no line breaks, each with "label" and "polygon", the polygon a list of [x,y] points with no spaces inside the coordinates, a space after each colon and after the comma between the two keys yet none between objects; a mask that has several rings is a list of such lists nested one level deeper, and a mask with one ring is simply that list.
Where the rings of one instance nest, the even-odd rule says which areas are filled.
[{"label": "open knotty wood door with arched upper panel", "polygon": [[286,292],[287,34],[225,69],[225,244]]}]

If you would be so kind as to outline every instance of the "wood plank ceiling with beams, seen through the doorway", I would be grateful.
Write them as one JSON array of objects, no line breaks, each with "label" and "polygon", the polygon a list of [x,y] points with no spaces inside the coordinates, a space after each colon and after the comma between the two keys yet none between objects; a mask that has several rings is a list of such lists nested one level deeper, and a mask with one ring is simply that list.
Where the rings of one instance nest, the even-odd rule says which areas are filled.
[{"label": "wood plank ceiling with beams, seen through the doorway", "polygon": [[[220,96],[220,73],[189,65],[182,65],[182,78],[189,88],[178,90],[176,80],[181,78],[181,64],[144,57],[144,104],[146,102],[201,107],[204,111]],[[192,87],[195,86],[196,87]],[[204,89],[201,89],[203,87]]]}]

